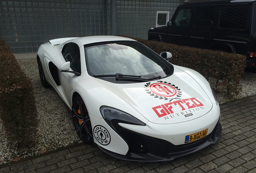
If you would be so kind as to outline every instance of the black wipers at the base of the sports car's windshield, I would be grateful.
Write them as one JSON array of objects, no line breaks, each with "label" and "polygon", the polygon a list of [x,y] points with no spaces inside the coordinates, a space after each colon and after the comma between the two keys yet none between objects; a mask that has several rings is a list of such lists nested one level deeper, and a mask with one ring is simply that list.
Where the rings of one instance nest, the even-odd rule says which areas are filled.
[{"label": "black wipers at the base of the sports car's windshield", "polygon": [[127,74],[122,74],[122,73],[93,75],[93,77],[116,77],[116,81],[117,80],[128,80],[128,81],[142,81],[142,82],[162,78],[161,76],[154,76],[154,78],[146,79],[146,78],[141,78],[141,76],[127,75]]}]

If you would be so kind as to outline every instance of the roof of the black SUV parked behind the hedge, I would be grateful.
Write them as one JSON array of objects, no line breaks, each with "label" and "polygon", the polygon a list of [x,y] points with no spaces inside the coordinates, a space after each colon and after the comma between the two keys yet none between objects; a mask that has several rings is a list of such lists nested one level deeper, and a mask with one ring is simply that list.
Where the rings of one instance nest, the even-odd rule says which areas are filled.
[{"label": "roof of the black SUV parked behind the hedge", "polygon": [[213,0],[213,1],[200,1],[200,2],[189,2],[182,4],[183,6],[204,6],[204,5],[224,5],[224,4],[249,4],[256,0]]}]

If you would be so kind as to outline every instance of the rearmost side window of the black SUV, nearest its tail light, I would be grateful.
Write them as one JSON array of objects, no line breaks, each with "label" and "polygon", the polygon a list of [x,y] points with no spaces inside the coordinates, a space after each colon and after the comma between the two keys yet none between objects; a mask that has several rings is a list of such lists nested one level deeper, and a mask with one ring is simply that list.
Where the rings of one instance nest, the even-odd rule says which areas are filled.
[{"label": "rearmost side window of the black SUV, nearest its tail light", "polygon": [[248,24],[248,8],[222,8],[220,12],[219,28],[244,30]]}]

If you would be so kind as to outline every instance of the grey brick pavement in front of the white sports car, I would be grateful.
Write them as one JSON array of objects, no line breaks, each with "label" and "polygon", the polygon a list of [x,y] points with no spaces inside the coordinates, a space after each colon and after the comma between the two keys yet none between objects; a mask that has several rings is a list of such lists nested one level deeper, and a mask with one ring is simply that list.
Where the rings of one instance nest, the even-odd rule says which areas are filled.
[{"label": "grey brick pavement in front of the white sports car", "polygon": [[130,162],[80,144],[0,165],[0,173],[256,173],[256,95],[224,103],[219,141],[171,162]]}]

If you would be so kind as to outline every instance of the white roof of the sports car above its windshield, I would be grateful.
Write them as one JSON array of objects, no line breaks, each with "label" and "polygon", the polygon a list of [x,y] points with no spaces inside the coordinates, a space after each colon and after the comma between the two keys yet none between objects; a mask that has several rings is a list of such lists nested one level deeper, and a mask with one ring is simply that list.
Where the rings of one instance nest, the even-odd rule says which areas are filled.
[{"label": "white roof of the sports car above its windshield", "polygon": [[78,44],[79,47],[85,44],[91,44],[95,42],[108,42],[108,41],[136,41],[131,38],[126,38],[122,36],[85,36],[80,38],[75,38],[72,42]]}]

